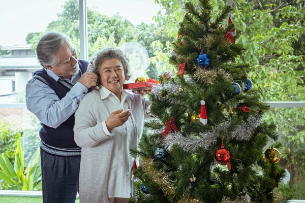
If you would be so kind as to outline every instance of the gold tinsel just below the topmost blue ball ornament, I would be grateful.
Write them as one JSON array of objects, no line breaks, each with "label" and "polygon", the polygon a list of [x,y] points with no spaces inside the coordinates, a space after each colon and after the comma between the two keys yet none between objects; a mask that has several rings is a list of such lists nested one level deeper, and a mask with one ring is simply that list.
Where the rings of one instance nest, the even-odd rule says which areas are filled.
[{"label": "gold tinsel just below the topmost blue ball ornament", "polygon": [[204,70],[197,69],[194,73],[196,80],[201,80],[205,85],[212,85],[215,83],[216,78],[221,77],[225,81],[232,81],[232,76],[224,70]]}]

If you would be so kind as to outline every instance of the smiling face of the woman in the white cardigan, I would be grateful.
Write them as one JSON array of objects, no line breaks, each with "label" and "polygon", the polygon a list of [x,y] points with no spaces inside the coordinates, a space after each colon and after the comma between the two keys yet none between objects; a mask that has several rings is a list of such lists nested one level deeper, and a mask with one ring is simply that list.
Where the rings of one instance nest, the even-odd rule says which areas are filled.
[{"label": "smiling face of the woman in the white cardigan", "polygon": [[125,82],[123,64],[117,59],[107,59],[100,65],[100,81],[102,86],[114,94],[120,94]]}]

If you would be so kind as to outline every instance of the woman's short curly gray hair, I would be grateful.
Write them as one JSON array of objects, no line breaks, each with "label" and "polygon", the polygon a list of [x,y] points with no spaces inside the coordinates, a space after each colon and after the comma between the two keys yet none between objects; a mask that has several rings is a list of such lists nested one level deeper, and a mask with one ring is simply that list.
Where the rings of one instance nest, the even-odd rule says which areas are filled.
[{"label": "woman's short curly gray hair", "polygon": [[[105,48],[99,51],[93,59],[90,61],[90,65],[92,67],[89,67],[89,69],[92,69],[92,72],[100,75],[100,66],[101,64],[108,59],[118,59],[123,64],[124,74],[125,74],[125,80],[130,79],[130,64],[129,64],[129,58],[126,54],[123,53],[120,49],[117,48]],[[97,86],[101,84],[100,79],[97,81]]]}]

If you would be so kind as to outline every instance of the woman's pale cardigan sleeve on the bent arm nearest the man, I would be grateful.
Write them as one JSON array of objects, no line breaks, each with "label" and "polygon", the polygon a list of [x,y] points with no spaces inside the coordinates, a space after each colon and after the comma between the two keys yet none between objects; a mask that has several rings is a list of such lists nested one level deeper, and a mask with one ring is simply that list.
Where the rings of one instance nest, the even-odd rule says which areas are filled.
[{"label": "woman's pale cardigan sleeve on the bent arm nearest the man", "polygon": [[97,123],[92,106],[82,101],[75,113],[75,143],[80,147],[94,147],[111,138],[113,134],[108,131],[105,122]]}]

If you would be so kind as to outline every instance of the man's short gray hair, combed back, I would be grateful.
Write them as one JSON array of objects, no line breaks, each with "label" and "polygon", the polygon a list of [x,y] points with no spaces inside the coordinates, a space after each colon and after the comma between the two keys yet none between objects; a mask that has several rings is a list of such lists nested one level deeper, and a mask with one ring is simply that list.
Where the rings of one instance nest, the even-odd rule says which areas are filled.
[{"label": "man's short gray hair, combed back", "polygon": [[69,38],[58,32],[48,32],[39,40],[36,47],[37,59],[44,69],[46,69],[46,65],[58,64],[59,58],[55,54],[64,45],[68,45],[71,51],[74,50]]}]

